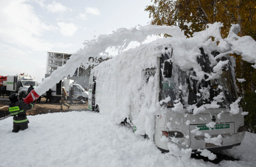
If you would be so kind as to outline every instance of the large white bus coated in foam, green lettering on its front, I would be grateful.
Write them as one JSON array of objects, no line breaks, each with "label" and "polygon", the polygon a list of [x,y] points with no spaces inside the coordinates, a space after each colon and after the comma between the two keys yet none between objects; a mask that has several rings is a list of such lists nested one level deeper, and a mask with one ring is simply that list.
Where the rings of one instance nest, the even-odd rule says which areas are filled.
[{"label": "large white bus coated in foam, green lettering on its front", "polygon": [[[126,119],[136,134],[148,135],[163,151],[176,146],[196,153],[197,149],[222,150],[240,145],[245,135],[242,109],[234,115],[229,109],[238,99],[233,57],[217,58],[217,62],[229,61],[221,67],[219,77],[207,80],[214,70],[210,55],[200,48],[197,62],[193,60],[205,73],[200,80],[195,68],[182,70],[173,61],[169,43],[156,43],[153,49],[158,55],[140,51],[138,56],[132,52],[94,67],[88,109],[110,114],[117,123]],[[214,60],[219,53],[213,51],[211,55]],[[140,66],[136,66],[138,63]],[[221,142],[207,143],[205,134],[220,137]]]}]

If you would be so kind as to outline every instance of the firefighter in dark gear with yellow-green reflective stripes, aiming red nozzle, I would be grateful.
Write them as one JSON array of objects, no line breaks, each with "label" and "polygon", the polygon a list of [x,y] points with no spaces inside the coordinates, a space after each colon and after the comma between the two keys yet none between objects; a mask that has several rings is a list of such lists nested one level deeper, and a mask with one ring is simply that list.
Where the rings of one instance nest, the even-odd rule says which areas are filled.
[{"label": "firefighter in dark gear with yellow-green reflective stripes, aiming red nozzle", "polygon": [[13,130],[12,132],[18,132],[29,128],[29,120],[27,119],[26,110],[30,110],[35,106],[34,102],[26,104],[25,102],[18,101],[18,94],[12,94],[9,96],[10,105],[8,110],[13,116]]}]

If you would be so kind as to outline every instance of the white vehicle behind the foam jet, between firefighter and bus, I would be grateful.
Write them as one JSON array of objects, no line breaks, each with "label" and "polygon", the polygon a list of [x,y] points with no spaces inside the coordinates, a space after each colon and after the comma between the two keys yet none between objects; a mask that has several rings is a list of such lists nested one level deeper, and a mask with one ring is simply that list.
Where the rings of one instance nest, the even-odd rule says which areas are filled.
[{"label": "white vehicle behind the foam jet, between firefighter and bus", "polygon": [[[70,88],[73,87],[74,97],[73,100],[77,100],[79,102],[88,101],[88,91],[84,90],[83,87],[79,84],[74,84],[74,80],[70,80],[67,78],[63,78],[59,83],[55,84],[51,90],[51,102],[58,102],[61,100],[61,87],[65,87],[67,91],[68,100],[70,98]],[[45,94],[42,94],[42,97],[46,97]]]}]

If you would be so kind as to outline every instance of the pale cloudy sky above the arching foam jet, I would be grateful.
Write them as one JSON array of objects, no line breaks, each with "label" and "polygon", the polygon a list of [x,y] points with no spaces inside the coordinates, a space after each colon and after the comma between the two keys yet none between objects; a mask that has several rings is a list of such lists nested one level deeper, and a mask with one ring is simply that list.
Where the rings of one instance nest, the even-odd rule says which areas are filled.
[{"label": "pale cloudy sky above the arching foam jet", "polygon": [[40,83],[48,51],[76,52],[84,40],[150,22],[151,0],[0,0],[0,75]]}]

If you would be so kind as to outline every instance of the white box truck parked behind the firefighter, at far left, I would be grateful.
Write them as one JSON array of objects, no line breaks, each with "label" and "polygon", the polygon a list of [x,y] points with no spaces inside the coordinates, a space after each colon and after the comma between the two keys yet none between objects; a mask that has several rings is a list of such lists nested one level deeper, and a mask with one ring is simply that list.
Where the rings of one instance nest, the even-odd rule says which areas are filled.
[{"label": "white box truck parked behind the firefighter, at far left", "polygon": [[12,93],[20,93],[25,92],[27,94],[27,90],[30,85],[33,85],[34,88],[38,86],[36,77],[30,75],[16,75],[16,76],[7,76],[7,87],[6,87],[6,95],[9,96]]}]

